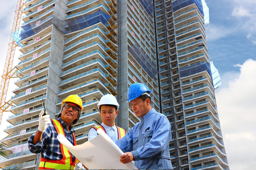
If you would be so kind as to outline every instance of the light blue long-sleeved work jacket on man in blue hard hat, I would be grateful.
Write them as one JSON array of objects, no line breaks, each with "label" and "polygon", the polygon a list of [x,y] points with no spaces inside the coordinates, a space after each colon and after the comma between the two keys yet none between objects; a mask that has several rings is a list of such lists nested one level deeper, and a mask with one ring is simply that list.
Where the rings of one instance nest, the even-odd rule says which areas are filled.
[{"label": "light blue long-sleeved work jacket on man in blue hard hat", "polygon": [[169,120],[151,109],[116,145],[132,152],[138,169],[173,169],[169,142],[172,139]]}]

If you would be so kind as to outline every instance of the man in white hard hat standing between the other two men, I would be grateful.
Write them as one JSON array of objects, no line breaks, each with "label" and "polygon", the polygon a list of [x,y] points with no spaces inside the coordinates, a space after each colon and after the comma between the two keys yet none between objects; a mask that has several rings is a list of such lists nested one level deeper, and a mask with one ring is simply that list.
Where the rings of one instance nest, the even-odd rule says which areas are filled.
[{"label": "man in white hard hat standing between the other two men", "polygon": [[98,136],[97,130],[101,128],[115,142],[126,134],[125,130],[115,125],[115,117],[118,115],[119,104],[113,95],[107,94],[101,97],[98,103],[102,124],[91,127],[88,140]]}]

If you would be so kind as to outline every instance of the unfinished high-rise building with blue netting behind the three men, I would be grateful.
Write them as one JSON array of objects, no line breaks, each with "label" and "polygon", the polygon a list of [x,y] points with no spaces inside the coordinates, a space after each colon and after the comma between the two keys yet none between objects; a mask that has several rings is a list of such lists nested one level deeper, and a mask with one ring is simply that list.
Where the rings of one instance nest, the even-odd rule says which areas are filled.
[{"label": "unfinished high-rise building with blue netting behind the three men", "polygon": [[214,92],[221,82],[207,50],[204,0],[27,0],[23,13],[12,34],[22,52],[9,108],[13,115],[6,120],[12,125],[1,140],[12,150],[0,168],[37,169],[40,154],[31,153],[27,141],[37,130],[42,99],[56,119],[63,99],[80,96],[78,145],[102,123],[97,103],[105,94],[116,96],[116,124],[128,132],[140,121],[125,103],[129,86],[138,82],[153,91],[152,107],[172,126],[174,169],[229,170]]}]

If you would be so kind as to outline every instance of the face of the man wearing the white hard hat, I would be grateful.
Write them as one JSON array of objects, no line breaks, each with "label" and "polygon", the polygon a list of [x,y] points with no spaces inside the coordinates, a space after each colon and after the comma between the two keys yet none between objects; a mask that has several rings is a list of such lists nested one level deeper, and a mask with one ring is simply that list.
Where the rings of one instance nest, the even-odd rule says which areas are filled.
[{"label": "face of the man wearing the white hard hat", "polygon": [[115,107],[113,106],[105,106],[102,105],[100,108],[100,116],[102,122],[107,126],[114,126],[115,125],[115,117],[118,114],[118,110],[115,111]]}]

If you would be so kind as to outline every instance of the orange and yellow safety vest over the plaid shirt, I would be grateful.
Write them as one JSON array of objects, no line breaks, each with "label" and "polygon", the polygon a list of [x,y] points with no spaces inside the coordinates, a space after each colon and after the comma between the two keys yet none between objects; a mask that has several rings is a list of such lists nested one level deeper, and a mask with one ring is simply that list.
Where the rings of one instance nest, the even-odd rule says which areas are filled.
[{"label": "orange and yellow safety vest over the plaid shirt", "polygon": [[[51,119],[58,134],[65,136],[64,129],[58,120]],[[66,137],[66,136],[65,136]],[[75,134],[73,133],[74,145],[77,145]],[[63,158],[61,160],[49,160],[41,157],[38,169],[74,169],[79,162],[77,159],[73,162],[72,155],[68,149],[60,143],[61,154]]]}]

